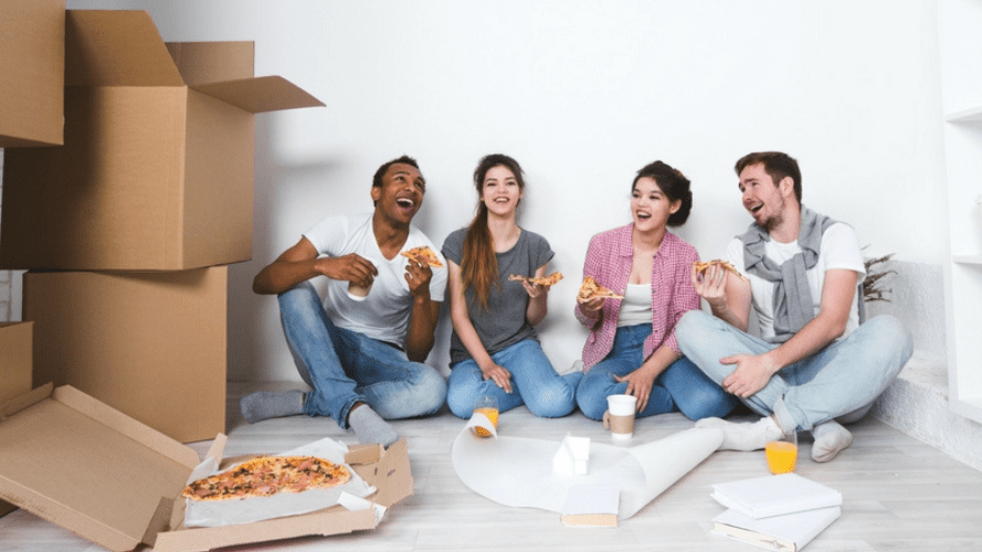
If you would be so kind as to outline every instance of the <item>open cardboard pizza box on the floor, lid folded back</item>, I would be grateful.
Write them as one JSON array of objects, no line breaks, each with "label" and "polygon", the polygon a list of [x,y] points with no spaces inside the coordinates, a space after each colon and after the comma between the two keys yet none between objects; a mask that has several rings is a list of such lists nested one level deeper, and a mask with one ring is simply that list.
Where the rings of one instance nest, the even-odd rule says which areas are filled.
[{"label": "open cardboard pizza box on the floor, lid folded back", "polygon": [[[209,456],[221,457],[219,435]],[[405,442],[352,446],[345,458],[383,507],[412,495]],[[374,529],[373,509],[341,506],[244,526],[184,528],[180,492],[198,453],[68,386],[0,404],[0,499],[109,550],[199,551]]]}]

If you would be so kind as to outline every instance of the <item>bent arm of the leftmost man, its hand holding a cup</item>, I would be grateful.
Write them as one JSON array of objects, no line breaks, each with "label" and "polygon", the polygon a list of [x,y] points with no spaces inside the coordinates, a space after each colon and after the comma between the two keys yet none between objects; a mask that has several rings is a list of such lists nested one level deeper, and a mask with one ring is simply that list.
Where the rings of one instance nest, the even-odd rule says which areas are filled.
[{"label": "bent arm of the leftmost man, its hand holding a cup", "polygon": [[378,269],[368,259],[350,253],[340,257],[318,257],[317,248],[306,237],[283,252],[252,280],[252,290],[279,295],[315,276],[327,276],[369,286]]}]

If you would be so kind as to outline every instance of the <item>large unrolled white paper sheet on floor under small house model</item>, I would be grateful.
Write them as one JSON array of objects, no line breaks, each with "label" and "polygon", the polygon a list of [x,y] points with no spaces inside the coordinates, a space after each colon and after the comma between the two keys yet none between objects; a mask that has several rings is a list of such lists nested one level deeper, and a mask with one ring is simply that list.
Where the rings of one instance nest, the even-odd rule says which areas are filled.
[{"label": "large unrolled white paper sheet on floor under small house model", "polygon": [[475,415],[457,435],[453,463],[457,476],[475,492],[513,507],[541,508],[561,513],[573,485],[614,485],[621,489],[617,518],[629,519],[691,471],[719,445],[719,429],[686,429],[632,448],[590,444],[587,475],[552,473],[558,440],[522,437],[477,437],[471,427],[494,433],[484,416]]}]

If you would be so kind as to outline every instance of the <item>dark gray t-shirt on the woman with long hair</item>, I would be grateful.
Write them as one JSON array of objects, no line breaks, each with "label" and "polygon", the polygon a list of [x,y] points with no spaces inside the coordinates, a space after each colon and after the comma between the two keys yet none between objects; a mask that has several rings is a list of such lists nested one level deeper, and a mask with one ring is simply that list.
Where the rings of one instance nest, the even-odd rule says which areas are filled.
[{"label": "dark gray t-shirt on the woman with long hair", "polygon": [[[443,242],[443,256],[456,265],[461,265],[464,252],[464,237],[467,229],[452,232]],[[471,323],[477,331],[477,337],[484,344],[488,354],[522,341],[536,339],[536,329],[525,318],[528,308],[528,293],[520,282],[508,282],[508,276],[518,274],[521,276],[535,276],[536,270],[548,263],[555,253],[549,247],[545,237],[522,230],[518,242],[514,247],[497,253],[498,278],[500,287],[492,286],[487,300],[487,309],[477,301],[473,287],[464,293],[467,299],[467,312]],[[450,360],[451,365],[471,359],[471,353],[461,342],[456,331],[451,336]]]}]

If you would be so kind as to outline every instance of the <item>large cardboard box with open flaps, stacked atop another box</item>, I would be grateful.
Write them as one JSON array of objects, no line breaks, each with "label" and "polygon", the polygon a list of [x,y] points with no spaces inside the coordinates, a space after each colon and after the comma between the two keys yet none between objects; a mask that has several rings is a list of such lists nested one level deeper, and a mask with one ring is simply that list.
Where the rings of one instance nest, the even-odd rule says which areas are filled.
[{"label": "large cardboard box with open flaps, stacked atop another box", "polygon": [[67,12],[65,145],[7,151],[0,266],[249,261],[254,114],[324,105],[253,77],[251,42],[166,45],[144,11]]}]

